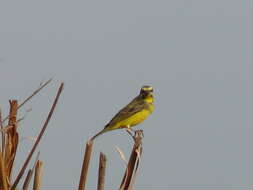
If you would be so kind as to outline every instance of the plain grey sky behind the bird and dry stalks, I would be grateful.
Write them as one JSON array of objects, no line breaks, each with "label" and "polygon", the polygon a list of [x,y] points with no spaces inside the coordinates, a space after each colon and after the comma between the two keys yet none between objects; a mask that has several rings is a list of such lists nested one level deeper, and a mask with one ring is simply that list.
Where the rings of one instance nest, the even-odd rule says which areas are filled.
[{"label": "plain grey sky behind the bird and dry stalks", "polygon": [[[66,85],[39,147],[43,189],[77,188],[85,141],[143,84],[154,87],[156,110],[140,125],[136,189],[253,188],[252,12],[249,0],[2,1],[1,108],[55,78],[27,105],[21,136],[38,133]],[[123,131],[97,139],[88,189],[99,151],[106,187],[117,189],[124,164],[114,147],[129,155],[130,142]],[[20,158],[31,145],[21,143]]]}]

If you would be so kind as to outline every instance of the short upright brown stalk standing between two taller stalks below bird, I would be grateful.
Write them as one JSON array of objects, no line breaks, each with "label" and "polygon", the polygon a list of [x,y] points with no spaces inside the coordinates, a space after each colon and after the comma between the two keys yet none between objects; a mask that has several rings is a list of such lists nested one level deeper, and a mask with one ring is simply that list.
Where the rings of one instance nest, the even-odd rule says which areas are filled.
[{"label": "short upright brown stalk standing between two taller stalks below bird", "polygon": [[97,190],[105,189],[105,169],[106,169],[106,156],[105,154],[100,152]]}]

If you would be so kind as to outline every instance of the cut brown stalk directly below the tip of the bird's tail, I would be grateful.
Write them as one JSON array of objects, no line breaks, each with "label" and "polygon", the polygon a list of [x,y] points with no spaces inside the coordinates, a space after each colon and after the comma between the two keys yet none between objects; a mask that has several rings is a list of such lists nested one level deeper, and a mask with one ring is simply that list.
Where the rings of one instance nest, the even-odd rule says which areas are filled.
[{"label": "cut brown stalk directly below the tip of the bird's tail", "polygon": [[89,163],[90,163],[90,158],[91,158],[91,153],[92,153],[92,147],[93,147],[93,141],[88,140],[86,143],[85,154],[83,158],[83,165],[82,165],[82,171],[80,175],[79,188],[78,188],[79,190],[85,189]]}]

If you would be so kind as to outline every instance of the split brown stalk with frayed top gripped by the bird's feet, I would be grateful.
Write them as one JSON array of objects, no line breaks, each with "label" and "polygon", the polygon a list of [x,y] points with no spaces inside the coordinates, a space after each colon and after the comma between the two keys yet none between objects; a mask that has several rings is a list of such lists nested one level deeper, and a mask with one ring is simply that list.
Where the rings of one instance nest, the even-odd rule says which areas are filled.
[{"label": "split brown stalk with frayed top gripped by the bird's feet", "polygon": [[136,131],[134,136],[134,146],[131,156],[128,161],[128,165],[125,171],[125,175],[122,179],[120,190],[132,190],[133,184],[138,170],[140,157],[142,154],[142,130]]}]

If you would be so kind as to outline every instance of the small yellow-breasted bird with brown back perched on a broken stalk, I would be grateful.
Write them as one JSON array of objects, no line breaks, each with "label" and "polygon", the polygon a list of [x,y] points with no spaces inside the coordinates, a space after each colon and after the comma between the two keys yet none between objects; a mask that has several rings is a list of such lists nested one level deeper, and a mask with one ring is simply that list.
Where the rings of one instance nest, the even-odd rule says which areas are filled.
[{"label": "small yellow-breasted bird with brown back perched on a broken stalk", "polygon": [[142,86],[140,93],[129,104],[122,108],[105,125],[104,129],[91,138],[93,141],[99,135],[115,129],[131,130],[131,127],[143,122],[154,110],[154,95],[152,86]]}]

